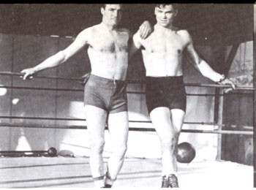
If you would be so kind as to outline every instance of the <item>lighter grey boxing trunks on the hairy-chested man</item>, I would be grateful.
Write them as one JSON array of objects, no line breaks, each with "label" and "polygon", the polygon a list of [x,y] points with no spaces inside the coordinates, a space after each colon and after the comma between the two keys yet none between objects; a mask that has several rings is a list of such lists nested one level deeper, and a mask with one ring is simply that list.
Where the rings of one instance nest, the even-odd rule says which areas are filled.
[{"label": "lighter grey boxing trunks on the hairy-chested man", "polygon": [[102,108],[108,113],[127,111],[126,87],[125,81],[90,75],[84,88],[84,104]]}]

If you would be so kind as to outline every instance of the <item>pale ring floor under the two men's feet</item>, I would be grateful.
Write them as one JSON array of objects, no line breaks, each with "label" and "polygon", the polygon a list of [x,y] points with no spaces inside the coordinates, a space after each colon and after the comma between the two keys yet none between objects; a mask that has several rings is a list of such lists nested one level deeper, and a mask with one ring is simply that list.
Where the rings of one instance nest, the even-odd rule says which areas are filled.
[{"label": "pale ring floor under the two men's feet", "polygon": [[[159,188],[160,176],[159,159],[125,159],[113,188]],[[186,189],[252,189],[253,167],[230,161],[179,163],[178,179]],[[0,188],[93,187],[88,158],[0,158]]]}]

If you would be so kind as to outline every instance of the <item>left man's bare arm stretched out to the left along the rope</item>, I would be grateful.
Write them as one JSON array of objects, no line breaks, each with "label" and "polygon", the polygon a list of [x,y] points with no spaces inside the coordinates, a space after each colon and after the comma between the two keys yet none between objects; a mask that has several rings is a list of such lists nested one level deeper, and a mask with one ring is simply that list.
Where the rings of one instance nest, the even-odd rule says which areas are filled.
[{"label": "left man's bare arm stretched out to the left along the rope", "polygon": [[78,34],[78,37],[75,39],[75,41],[72,42],[72,44],[69,45],[66,49],[59,51],[53,56],[50,56],[49,58],[45,59],[45,61],[42,61],[41,64],[38,64],[37,66],[34,66],[29,69],[23,69],[21,71],[22,73],[25,73],[25,75],[23,76],[23,79],[26,80],[28,77],[31,77],[31,75],[34,75],[39,71],[63,64],[71,56],[75,55],[75,53],[78,53],[78,51],[81,50],[88,43],[88,39],[89,39],[89,31],[85,30],[80,32],[80,34]]}]

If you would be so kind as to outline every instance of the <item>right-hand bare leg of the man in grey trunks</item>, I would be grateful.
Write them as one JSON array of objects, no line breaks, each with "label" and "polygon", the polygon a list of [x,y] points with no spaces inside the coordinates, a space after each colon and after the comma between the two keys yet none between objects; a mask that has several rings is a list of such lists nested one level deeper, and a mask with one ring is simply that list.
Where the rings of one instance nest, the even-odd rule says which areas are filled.
[{"label": "right-hand bare leg of the man in grey trunks", "polygon": [[108,160],[106,184],[112,186],[124,164],[124,155],[127,151],[129,132],[127,112],[110,113],[108,116],[108,129],[113,145],[113,153]]}]

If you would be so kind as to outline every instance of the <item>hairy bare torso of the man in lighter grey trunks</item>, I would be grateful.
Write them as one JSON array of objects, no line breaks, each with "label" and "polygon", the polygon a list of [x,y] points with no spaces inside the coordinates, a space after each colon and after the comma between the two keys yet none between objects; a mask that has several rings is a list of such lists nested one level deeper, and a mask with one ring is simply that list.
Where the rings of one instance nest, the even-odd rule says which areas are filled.
[{"label": "hairy bare torso of the man in lighter grey trunks", "polygon": [[126,80],[129,31],[108,30],[102,23],[88,28],[91,74],[116,80]]}]

